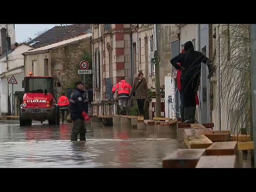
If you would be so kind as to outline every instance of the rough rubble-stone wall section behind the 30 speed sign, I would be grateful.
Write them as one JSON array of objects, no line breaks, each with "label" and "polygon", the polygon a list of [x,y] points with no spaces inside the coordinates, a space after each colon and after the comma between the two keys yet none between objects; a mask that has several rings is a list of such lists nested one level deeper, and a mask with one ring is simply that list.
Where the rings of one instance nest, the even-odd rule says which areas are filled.
[{"label": "rough rubble-stone wall section behind the 30 speed sign", "polygon": [[51,50],[51,75],[60,79],[62,87],[76,80],[83,79],[82,75],[77,74],[77,70],[80,63],[80,54],[85,49],[90,50],[90,38]]}]

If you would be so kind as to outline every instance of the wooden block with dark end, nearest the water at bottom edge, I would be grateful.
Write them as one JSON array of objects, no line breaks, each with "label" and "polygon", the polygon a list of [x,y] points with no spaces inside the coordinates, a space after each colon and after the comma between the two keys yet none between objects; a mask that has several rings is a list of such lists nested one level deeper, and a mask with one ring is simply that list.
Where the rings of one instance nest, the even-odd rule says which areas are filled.
[{"label": "wooden block with dark end, nearest the water at bottom edge", "polygon": [[195,168],[205,149],[179,149],[162,161],[163,168]]}]

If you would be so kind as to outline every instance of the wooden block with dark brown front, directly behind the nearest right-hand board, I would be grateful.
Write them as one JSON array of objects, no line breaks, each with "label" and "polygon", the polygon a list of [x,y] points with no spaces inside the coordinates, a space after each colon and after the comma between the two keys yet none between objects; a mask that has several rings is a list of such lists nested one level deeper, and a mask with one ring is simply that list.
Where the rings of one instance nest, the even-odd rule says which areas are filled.
[{"label": "wooden block with dark brown front, directly behind the nearest right-hand board", "polygon": [[215,142],[206,149],[206,155],[236,155],[237,142]]}]

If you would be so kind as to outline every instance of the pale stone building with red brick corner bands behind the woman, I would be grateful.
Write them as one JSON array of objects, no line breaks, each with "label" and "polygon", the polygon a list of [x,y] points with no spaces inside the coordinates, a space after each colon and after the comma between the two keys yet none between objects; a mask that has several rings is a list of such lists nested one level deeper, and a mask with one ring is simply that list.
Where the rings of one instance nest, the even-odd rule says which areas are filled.
[{"label": "pale stone building with red brick corner bands behind the woman", "polygon": [[[170,43],[177,39],[176,28],[175,24],[158,25],[161,86],[164,76],[172,71]],[[112,86],[123,77],[132,85],[139,71],[144,73],[148,88],[155,92],[154,44],[153,24],[92,24],[93,115],[116,114],[113,98],[117,95],[112,94]],[[153,98],[150,117],[155,116],[155,102]]]}]

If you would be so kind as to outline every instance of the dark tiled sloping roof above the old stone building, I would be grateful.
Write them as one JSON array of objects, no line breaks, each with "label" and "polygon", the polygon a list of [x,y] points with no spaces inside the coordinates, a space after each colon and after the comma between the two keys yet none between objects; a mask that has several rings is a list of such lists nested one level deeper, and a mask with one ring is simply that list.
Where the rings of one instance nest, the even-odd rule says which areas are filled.
[{"label": "dark tiled sloping roof above the old stone building", "polygon": [[40,36],[27,42],[33,48],[39,48],[64,41],[82,34],[90,33],[91,24],[73,24],[68,26],[55,26]]}]

